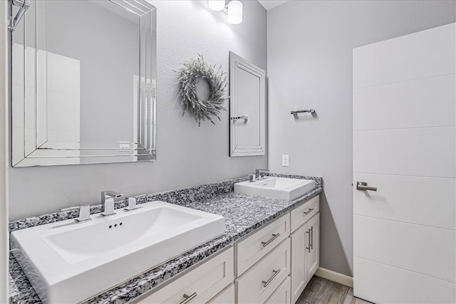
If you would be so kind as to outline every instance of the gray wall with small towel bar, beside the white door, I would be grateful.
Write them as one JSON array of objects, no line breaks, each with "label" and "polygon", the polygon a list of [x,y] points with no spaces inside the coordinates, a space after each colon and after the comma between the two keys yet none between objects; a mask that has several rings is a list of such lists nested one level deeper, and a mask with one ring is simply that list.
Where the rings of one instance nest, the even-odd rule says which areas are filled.
[{"label": "gray wall with small towel bar, beside the white door", "polygon": [[[455,22],[455,3],[289,1],[268,11],[269,169],[323,177],[321,267],[353,273],[352,49]],[[306,108],[318,116],[289,113]]]}]

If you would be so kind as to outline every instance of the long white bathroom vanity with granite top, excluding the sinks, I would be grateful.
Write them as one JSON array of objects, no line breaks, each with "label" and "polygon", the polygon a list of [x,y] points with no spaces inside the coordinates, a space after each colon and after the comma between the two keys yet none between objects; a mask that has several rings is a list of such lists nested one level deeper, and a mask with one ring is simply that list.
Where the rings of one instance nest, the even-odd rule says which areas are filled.
[{"label": "long white bathroom vanity with granite top, excluding the sinks", "polygon": [[[225,232],[83,303],[294,303],[318,268],[322,181],[293,177],[313,179],[316,187],[292,201],[234,193],[234,183],[246,178],[148,195],[147,201],[224,216]],[[99,206],[93,207],[92,213],[98,212]],[[73,211],[47,214],[13,221],[10,229],[73,217]],[[11,301],[39,303],[12,256],[10,272],[19,290]]]}]

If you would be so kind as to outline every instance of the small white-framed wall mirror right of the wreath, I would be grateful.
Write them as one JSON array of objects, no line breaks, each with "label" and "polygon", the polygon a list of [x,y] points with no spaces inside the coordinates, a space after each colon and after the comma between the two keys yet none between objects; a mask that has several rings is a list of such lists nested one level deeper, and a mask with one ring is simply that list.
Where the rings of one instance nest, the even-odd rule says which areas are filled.
[{"label": "small white-framed wall mirror right of the wreath", "polygon": [[229,155],[264,155],[266,141],[264,70],[229,52]]}]

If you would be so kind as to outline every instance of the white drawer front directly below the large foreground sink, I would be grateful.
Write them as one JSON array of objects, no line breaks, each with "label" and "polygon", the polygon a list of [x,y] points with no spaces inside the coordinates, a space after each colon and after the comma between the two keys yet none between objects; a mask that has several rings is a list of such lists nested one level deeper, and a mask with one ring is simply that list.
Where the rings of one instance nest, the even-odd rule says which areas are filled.
[{"label": "white drawer front directly below the large foreground sink", "polygon": [[[152,293],[140,303],[206,303],[234,280],[234,250],[229,248]],[[191,299],[190,299],[190,298]]]}]

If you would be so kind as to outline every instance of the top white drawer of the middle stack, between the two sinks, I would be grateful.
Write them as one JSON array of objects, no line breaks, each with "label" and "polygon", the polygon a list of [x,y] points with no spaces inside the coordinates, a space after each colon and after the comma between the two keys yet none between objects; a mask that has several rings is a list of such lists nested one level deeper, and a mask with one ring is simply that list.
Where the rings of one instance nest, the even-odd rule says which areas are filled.
[{"label": "top white drawer of the middle stack, between the two sinks", "polygon": [[247,239],[235,243],[236,276],[241,276],[250,266],[257,263],[263,256],[266,256],[266,253],[271,251],[281,241],[284,241],[289,234],[290,215],[287,213],[272,224],[255,232]]}]

